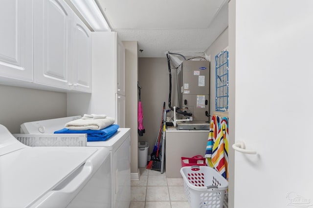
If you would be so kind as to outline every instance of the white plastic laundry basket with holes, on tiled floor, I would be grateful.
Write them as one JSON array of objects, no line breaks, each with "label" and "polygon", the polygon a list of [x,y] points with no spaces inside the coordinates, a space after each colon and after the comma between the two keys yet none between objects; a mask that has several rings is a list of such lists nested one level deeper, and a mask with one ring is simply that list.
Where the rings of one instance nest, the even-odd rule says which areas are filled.
[{"label": "white plastic laundry basket with holes, on tiled floor", "polygon": [[207,166],[186,166],[180,169],[184,190],[192,208],[223,208],[227,180]]}]

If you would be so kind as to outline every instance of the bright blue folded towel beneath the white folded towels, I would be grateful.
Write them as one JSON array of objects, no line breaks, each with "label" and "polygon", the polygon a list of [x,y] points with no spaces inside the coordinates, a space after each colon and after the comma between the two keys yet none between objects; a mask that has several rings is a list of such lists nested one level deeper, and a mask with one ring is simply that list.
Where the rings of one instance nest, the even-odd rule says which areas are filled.
[{"label": "bright blue folded towel beneath the white folded towels", "polygon": [[117,132],[119,125],[112,124],[101,130],[69,130],[67,128],[55,131],[54,133],[87,133],[87,141],[106,141]]}]

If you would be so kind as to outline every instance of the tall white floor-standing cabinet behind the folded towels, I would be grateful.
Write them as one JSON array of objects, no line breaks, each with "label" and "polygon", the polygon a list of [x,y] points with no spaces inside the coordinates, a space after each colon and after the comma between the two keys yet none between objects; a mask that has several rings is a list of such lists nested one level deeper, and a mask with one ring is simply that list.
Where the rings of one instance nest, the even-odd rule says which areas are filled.
[{"label": "tall white floor-standing cabinet behind the folded towels", "polygon": [[115,32],[91,33],[92,92],[67,94],[67,115],[106,114],[125,128],[125,47]]}]

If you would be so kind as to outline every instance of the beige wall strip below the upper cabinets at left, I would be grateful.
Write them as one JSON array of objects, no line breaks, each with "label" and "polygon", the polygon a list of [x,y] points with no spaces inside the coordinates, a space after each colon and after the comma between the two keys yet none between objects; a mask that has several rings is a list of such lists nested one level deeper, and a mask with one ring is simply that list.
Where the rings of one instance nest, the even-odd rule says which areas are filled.
[{"label": "beige wall strip below the upper cabinets at left", "polygon": [[65,117],[65,93],[0,85],[0,124],[20,133],[24,122]]}]

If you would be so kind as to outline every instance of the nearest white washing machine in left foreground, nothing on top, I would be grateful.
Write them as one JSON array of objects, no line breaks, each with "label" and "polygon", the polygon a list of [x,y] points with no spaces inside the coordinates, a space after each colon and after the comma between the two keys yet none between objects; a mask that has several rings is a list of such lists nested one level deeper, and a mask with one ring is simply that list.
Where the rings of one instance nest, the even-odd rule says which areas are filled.
[{"label": "nearest white washing machine in left foreground, nothing on top", "polygon": [[110,208],[102,147],[29,147],[0,125],[1,208]]}]

